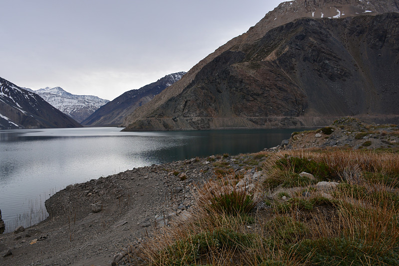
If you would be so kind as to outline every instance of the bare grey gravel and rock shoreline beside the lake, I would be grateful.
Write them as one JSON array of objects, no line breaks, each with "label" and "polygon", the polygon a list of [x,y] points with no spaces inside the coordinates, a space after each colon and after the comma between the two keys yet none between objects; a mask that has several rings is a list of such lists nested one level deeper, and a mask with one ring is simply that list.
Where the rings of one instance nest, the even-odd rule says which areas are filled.
[{"label": "bare grey gravel and rock shoreline beside the lake", "polygon": [[193,192],[210,179],[233,174],[262,182],[268,156],[284,150],[378,150],[383,145],[386,150],[398,150],[398,133],[394,125],[365,126],[344,118],[331,127],[293,134],[281,146],[258,153],[192,158],[69,185],[46,201],[50,214],[46,220],[17,234],[0,235],[0,244],[12,253],[0,257],[0,262],[116,265],[158,228],[188,219],[196,204]]}]

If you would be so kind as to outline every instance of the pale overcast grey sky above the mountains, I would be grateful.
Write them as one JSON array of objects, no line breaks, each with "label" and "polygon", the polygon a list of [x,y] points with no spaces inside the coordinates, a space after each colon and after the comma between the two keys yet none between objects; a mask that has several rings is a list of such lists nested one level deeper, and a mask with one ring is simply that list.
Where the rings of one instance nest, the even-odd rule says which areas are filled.
[{"label": "pale overcast grey sky above the mountains", "polygon": [[113,100],[189,71],[281,0],[0,0],[0,77]]}]

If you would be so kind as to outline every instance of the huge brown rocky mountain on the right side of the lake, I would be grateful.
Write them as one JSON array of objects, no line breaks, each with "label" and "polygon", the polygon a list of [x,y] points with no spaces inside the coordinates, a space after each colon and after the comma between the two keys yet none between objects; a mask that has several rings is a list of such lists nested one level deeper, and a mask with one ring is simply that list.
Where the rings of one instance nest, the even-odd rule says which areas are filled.
[{"label": "huge brown rocky mountain on the right side of the lake", "polygon": [[[294,0],[138,108],[125,131],[398,121],[399,0]],[[393,13],[389,13],[393,12]]]}]

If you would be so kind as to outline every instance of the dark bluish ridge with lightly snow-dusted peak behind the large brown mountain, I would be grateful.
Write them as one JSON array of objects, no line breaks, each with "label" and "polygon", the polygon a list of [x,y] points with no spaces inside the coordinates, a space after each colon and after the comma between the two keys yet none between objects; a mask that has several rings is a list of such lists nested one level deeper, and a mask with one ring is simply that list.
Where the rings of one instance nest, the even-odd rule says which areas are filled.
[{"label": "dark bluish ridge with lightly snow-dusted peak behind the large brown mountain", "polygon": [[138,107],[151,101],[155,95],[180,80],[186,72],[166,75],[138,90],[130,90],[100,107],[82,122],[85,126],[120,125],[124,118]]}]

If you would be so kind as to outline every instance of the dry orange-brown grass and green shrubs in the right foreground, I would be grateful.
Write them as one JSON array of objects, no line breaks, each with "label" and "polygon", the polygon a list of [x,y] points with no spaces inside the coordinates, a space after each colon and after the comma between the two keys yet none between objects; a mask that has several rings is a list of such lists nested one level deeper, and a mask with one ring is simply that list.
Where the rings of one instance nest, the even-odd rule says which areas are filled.
[{"label": "dry orange-brown grass and green shrubs in the right foreground", "polygon": [[[205,183],[191,216],[141,247],[141,263],[399,265],[398,153],[330,148],[256,156],[264,160],[261,183],[250,190],[227,172]],[[321,190],[320,181],[338,185]]]}]

